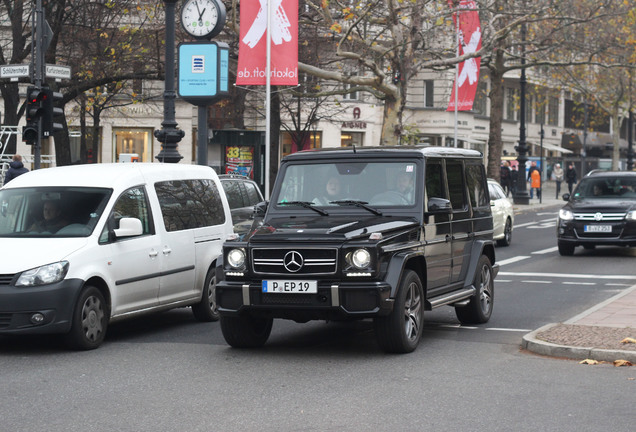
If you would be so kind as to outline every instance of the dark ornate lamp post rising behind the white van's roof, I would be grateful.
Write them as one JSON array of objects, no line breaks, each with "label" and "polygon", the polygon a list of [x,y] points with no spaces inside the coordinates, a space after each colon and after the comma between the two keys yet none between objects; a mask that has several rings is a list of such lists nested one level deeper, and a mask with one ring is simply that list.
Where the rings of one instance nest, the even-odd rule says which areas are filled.
[{"label": "dark ornate lamp post rising behind the white van's roof", "polygon": [[156,156],[160,162],[177,163],[183,156],[179,154],[177,146],[185,136],[183,130],[177,129],[174,101],[174,51],[175,51],[175,3],[177,0],[164,0],[166,8],[166,78],[163,92],[163,122],[162,128],[155,131],[155,138],[161,143],[161,151]]}]

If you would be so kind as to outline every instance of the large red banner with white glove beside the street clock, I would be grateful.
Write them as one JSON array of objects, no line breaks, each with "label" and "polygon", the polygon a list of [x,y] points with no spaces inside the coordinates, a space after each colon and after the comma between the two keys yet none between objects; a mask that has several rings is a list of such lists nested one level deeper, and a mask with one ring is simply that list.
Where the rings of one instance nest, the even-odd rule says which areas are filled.
[{"label": "large red banner with white glove beside the street clock", "polygon": [[[272,85],[298,85],[298,0],[271,1]],[[243,0],[236,84],[265,85],[267,2]]]}]

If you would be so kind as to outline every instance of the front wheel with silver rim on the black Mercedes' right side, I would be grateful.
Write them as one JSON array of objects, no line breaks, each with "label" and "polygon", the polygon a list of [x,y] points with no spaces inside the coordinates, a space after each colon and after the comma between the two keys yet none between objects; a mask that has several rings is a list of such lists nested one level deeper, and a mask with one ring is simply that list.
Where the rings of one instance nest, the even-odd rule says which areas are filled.
[{"label": "front wheel with silver rim on the black Mercedes' right side", "polygon": [[391,313],[374,320],[380,347],[389,353],[409,353],[417,348],[424,325],[424,289],[417,273],[402,275]]}]

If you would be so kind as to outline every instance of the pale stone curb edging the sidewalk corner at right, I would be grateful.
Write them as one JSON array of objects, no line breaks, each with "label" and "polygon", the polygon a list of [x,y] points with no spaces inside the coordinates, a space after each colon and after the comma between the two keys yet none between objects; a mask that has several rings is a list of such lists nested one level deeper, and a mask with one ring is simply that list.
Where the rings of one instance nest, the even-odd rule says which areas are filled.
[{"label": "pale stone curb edging the sidewalk corner at right", "polygon": [[594,347],[574,347],[568,345],[557,345],[542,341],[536,338],[538,333],[546,331],[557,325],[557,323],[547,324],[534,330],[525,336],[521,342],[521,347],[535,354],[549,357],[564,357],[573,360],[592,359],[598,361],[613,362],[614,360],[627,360],[636,364],[636,351],[606,350]]}]

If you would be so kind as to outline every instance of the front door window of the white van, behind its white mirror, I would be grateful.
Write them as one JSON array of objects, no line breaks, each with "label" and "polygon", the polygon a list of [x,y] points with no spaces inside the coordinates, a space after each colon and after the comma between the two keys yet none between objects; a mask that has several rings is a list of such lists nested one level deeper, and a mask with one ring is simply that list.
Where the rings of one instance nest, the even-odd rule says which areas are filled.
[{"label": "front door window of the white van, behind its white mirror", "polygon": [[113,210],[108,216],[108,223],[99,237],[99,242],[107,242],[109,226],[112,229],[119,228],[119,221],[125,217],[137,218],[141,221],[142,235],[155,233],[148,206],[148,197],[143,186],[130,188],[117,198]]}]

